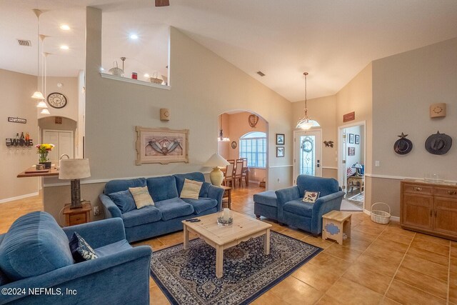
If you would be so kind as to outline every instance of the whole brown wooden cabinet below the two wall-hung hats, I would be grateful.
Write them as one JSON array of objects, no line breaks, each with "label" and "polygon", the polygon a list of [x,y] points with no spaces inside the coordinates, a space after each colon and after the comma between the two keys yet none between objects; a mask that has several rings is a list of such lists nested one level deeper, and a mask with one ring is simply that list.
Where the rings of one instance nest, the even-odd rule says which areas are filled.
[{"label": "whole brown wooden cabinet below the two wall-hung hats", "polygon": [[401,181],[401,226],[457,240],[457,185]]}]

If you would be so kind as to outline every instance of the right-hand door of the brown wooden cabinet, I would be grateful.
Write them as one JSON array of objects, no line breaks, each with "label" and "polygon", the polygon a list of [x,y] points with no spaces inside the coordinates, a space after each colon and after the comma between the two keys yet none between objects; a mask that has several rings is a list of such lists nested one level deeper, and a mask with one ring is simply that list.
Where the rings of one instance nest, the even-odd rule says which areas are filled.
[{"label": "right-hand door of the brown wooden cabinet", "polygon": [[457,199],[435,197],[433,230],[444,234],[457,234]]}]

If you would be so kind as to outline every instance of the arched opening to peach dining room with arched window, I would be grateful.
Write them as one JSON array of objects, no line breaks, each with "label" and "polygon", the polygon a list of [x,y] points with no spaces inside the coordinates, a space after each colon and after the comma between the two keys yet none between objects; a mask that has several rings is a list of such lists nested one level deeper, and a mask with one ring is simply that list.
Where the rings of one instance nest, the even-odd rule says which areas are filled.
[{"label": "arched opening to peach dining room with arched window", "polygon": [[226,160],[247,158],[248,181],[268,185],[268,122],[258,114],[246,110],[220,114],[218,153]]}]

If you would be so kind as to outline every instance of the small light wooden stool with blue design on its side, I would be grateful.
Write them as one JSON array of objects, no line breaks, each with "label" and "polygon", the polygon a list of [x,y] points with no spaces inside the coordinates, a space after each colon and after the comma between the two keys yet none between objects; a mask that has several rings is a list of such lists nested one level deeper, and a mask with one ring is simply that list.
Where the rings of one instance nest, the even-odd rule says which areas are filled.
[{"label": "small light wooden stool with blue design on its side", "polygon": [[351,237],[351,212],[329,211],[322,216],[322,239],[333,239],[343,244],[343,234]]}]

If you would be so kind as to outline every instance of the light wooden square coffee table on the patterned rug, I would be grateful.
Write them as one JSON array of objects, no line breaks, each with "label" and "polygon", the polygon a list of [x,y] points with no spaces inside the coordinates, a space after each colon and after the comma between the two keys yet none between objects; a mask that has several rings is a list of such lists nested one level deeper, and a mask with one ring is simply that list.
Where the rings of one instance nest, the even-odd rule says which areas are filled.
[{"label": "light wooden square coffee table on the patterned rug", "polygon": [[195,233],[216,249],[216,276],[222,277],[224,264],[224,249],[248,241],[265,234],[263,253],[270,254],[271,224],[253,219],[249,216],[232,211],[233,224],[221,226],[217,224],[217,213],[201,216],[199,222],[182,221],[184,224],[184,249],[189,249],[189,232]]}]

